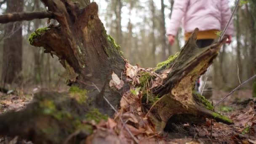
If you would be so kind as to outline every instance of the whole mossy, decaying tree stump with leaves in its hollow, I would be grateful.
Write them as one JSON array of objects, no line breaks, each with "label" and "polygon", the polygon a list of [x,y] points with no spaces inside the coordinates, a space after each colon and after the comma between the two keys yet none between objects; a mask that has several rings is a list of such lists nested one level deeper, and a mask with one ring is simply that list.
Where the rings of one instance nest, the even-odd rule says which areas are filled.
[{"label": "whole mossy, decaying tree stump with leaves in its hollow", "polygon": [[[59,25],[37,29],[29,43],[59,57],[72,87],[69,93],[42,91],[26,109],[1,115],[0,134],[18,135],[37,144],[115,142],[107,139],[110,135],[139,142],[143,138],[140,134],[153,139],[159,136],[174,115],[208,117],[232,124],[214,112],[203,96],[193,92],[196,78],[216,58],[225,39],[199,49],[195,29],[176,56],[153,69],[133,67],[123,58],[120,46],[107,35],[96,3],[86,0],[86,6],[80,8],[71,0],[41,1]],[[115,113],[111,105],[120,108],[115,121],[106,117]],[[121,123],[123,119],[130,123]],[[102,124],[101,120],[107,122]],[[127,130],[130,134],[122,135],[122,125],[130,132],[134,128],[144,132],[134,134],[134,130],[131,134]]]}]

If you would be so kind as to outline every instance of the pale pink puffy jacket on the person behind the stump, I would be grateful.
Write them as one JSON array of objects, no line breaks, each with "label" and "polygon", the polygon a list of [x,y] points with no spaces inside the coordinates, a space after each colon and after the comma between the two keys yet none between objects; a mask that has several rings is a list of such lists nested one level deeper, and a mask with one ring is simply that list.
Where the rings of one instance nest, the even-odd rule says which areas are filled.
[{"label": "pale pink puffy jacket on the person behind the stump", "polygon": [[[175,0],[167,35],[176,35],[181,25],[185,33],[196,27],[199,31],[223,30],[231,16],[228,0]],[[226,35],[233,34],[232,21]]]}]

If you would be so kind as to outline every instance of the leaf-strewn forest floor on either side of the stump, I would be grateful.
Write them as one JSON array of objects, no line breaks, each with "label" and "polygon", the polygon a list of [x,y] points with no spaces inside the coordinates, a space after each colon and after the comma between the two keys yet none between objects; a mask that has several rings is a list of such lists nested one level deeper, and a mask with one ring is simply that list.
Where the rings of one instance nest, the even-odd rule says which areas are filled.
[{"label": "leaf-strewn forest floor on either side of the stump", "polygon": [[[15,94],[0,93],[0,114],[23,109],[33,98],[33,93],[40,91],[38,88],[19,90]],[[67,88],[59,90],[67,91]],[[234,125],[212,122],[206,120],[204,125],[195,125],[185,123],[176,125],[176,131],[165,133],[160,139],[168,143],[177,144],[208,144],[208,143],[238,143],[238,144],[256,144],[256,99],[251,99],[250,90],[240,90],[233,93],[225,99],[216,108],[216,112],[228,116],[233,120]],[[215,104],[228,92],[214,90],[210,101]],[[248,100],[250,99],[250,100]],[[212,134],[211,134],[212,132]],[[171,138],[171,139],[170,139]],[[17,141],[23,144],[32,144],[24,140],[0,136],[0,144],[16,144]],[[150,139],[142,143],[152,143]],[[163,142],[163,141],[162,141]]]}]

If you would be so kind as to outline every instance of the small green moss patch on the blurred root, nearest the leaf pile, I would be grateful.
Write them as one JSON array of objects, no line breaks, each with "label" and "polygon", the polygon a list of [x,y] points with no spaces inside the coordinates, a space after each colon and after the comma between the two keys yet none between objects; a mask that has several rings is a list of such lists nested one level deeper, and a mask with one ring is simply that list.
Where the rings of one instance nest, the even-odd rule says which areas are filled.
[{"label": "small green moss patch on the blurred root, nearest the leaf pile", "polygon": [[108,116],[103,115],[99,112],[98,109],[92,109],[85,115],[86,121],[95,120],[96,123],[99,123],[101,120],[107,120]]}]

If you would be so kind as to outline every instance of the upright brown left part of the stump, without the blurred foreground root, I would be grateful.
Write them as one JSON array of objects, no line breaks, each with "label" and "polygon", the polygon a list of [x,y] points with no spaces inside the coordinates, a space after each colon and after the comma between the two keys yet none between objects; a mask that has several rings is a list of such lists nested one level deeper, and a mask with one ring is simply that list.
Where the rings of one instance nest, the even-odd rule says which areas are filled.
[{"label": "upright brown left part of the stump, without the blurred foreground root", "polygon": [[[95,96],[98,94],[95,90],[103,88],[112,72],[119,76],[123,72],[125,61],[120,48],[107,35],[99,20],[96,3],[89,4],[84,10],[77,10],[76,5],[69,1],[66,6],[59,0],[55,1],[59,4],[56,8],[48,3],[46,5],[49,5],[48,8],[53,13],[57,13],[56,19],[60,25],[38,29],[30,36],[29,41],[32,45],[44,47],[45,53],[59,57],[60,63],[69,73],[69,85],[80,85],[92,91],[89,96]],[[67,11],[69,9],[73,11]],[[116,97],[120,98],[120,94],[117,91],[109,87],[104,91],[113,105],[119,103]],[[96,105],[101,106],[101,101],[97,101]],[[110,107],[107,113],[113,113]]]}]

